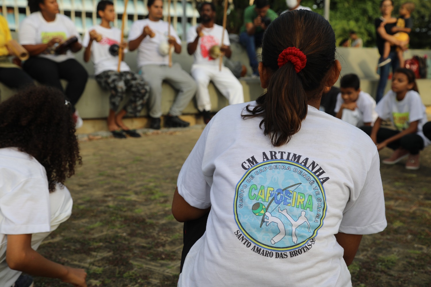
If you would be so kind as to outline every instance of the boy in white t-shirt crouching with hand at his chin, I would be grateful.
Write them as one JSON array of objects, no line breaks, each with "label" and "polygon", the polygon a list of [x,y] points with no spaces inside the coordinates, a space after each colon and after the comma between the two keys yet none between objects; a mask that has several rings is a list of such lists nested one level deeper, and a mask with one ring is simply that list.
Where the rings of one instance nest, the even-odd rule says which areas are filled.
[{"label": "boy in white t-shirt crouching with hand at his chin", "polygon": [[337,96],[334,112],[336,117],[355,127],[372,126],[377,120],[376,102],[359,87],[356,74],[347,74],[341,78],[341,93]]}]

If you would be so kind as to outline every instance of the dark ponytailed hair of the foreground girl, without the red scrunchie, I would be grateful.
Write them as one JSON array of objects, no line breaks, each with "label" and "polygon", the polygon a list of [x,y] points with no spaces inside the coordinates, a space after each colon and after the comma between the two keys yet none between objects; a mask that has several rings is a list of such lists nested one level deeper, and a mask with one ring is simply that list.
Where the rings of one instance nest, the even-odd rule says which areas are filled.
[{"label": "dark ponytailed hair of the foreground girl, without the red scrunchie", "polygon": [[[296,47],[306,56],[298,73],[292,62],[278,67],[278,56]],[[335,61],[335,34],[321,15],[307,10],[285,12],[266,29],[262,40],[262,64],[271,71],[268,88],[257,105],[245,108],[244,119],[263,117],[263,133],[272,145],[281,146],[301,128],[309,100],[322,95],[328,71]]]}]

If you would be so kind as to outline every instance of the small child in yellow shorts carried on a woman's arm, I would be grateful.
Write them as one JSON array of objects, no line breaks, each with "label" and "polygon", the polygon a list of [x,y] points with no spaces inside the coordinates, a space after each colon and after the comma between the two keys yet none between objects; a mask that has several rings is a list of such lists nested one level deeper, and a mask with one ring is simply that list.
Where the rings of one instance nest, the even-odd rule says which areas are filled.
[{"label": "small child in yellow shorts carried on a woman's arm", "polygon": [[[413,28],[413,20],[410,17],[411,13],[415,9],[415,4],[412,2],[406,2],[400,7],[400,17],[397,19],[397,26],[392,28],[392,33],[396,33],[393,36],[387,35],[389,39],[386,39],[387,41],[384,43],[384,52],[383,52],[383,58],[385,59],[383,62],[381,62],[378,67],[387,65],[391,62],[391,59],[389,57],[390,53],[390,47],[394,46],[394,43],[397,44],[398,42],[401,42],[397,45],[397,56],[400,60],[400,67],[404,67],[404,56],[403,52],[404,49],[409,44],[409,34],[412,31]],[[382,22],[381,25],[385,25],[387,23],[391,22]],[[391,41],[391,38],[394,38],[396,41]],[[391,43],[392,42],[392,43]],[[387,58],[387,59],[386,59]]]}]

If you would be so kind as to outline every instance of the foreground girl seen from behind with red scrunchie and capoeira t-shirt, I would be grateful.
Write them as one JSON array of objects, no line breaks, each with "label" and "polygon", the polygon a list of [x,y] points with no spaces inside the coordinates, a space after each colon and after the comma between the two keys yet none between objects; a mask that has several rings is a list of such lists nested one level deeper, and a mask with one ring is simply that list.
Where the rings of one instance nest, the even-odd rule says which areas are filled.
[{"label": "foreground girl seen from behind with red scrunchie and capoeira t-shirt", "polygon": [[266,93],[217,113],[178,176],[175,219],[209,212],[194,244],[185,229],[178,286],[352,286],[362,235],[386,219],[375,144],[319,111],[340,74],[331,25],[307,10],[280,15],[259,74]]}]

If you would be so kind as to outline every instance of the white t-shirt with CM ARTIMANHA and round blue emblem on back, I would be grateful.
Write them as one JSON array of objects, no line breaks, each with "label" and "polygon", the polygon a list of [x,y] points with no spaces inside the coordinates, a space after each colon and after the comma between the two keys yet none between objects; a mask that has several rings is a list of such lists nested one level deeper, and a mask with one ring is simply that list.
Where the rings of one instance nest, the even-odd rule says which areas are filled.
[{"label": "white t-shirt with CM ARTIMANHA and round blue emblem on back", "polygon": [[211,207],[178,286],[351,286],[334,235],[387,225],[375,144],[308,106],[300,131],[274,147],[261,117],[241,118],[247,104],[212,118],[178,175],[187,203]]}]

